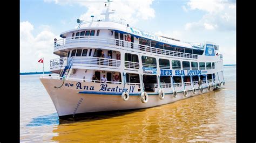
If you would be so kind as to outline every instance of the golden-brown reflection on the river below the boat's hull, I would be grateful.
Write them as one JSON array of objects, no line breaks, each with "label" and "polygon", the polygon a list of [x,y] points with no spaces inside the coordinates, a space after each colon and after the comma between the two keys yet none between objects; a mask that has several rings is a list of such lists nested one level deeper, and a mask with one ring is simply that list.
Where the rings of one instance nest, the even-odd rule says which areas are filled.
[{"label": "golden-brown reflection on the river below the boat's hull", "polygon": [[[155,108],[60,120],[53,141],[216,141],[225,124],[224,96],[218,91]],[[68,123],[68,124],[66,124]]]}]

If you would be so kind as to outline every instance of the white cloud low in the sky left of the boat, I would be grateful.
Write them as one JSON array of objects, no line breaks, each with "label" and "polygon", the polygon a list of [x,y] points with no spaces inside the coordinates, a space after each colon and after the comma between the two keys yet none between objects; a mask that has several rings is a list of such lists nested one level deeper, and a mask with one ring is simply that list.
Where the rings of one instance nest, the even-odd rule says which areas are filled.
[{"label": "white cloud low in the sky left of the boat", "polygon": [[[41,27],[50,28],[43,25]],[[38,60],[44,58],[44,70],[49,71],[51,59],[58,58],[53,54],[53,39],[57,36],[51,31],[43,29],[39,34],[34,36],[32,31],[33,25],[30,22],[20,23],[20,71],[42,71],[42,63]]]}]

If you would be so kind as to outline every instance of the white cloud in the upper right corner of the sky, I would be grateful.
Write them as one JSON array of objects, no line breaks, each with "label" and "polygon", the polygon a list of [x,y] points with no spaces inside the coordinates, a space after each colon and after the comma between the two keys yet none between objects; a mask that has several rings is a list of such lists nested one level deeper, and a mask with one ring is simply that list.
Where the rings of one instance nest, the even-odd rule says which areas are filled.
[{"label": "white cloud in the upper right corner of the sky", "polygon": [[236,28],[236,5],[227,0],[190,0],[188,10],[205,11],[205,15],[198,22],[185,25],[185,30],[231,30]]}]

